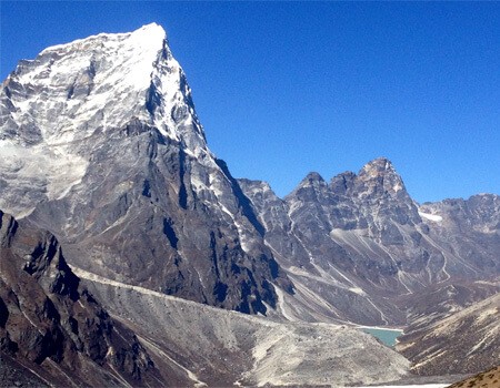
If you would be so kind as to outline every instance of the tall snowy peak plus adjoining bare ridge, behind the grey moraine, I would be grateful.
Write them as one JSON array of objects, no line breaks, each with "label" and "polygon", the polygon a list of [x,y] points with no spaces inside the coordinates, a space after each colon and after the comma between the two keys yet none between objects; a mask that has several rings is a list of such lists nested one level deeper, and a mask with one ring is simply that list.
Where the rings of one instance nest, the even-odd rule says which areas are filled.
[{"label": "tall snowy peak plus adjoining bare ridge, behind the grey moraine", "polygon": [[499,290],[498,195],[418,204],[387,157],[283,198],[237,180],[156,24],[21,61],[0,104],[0,208],[82,273],[296,324],[427,325]]}]

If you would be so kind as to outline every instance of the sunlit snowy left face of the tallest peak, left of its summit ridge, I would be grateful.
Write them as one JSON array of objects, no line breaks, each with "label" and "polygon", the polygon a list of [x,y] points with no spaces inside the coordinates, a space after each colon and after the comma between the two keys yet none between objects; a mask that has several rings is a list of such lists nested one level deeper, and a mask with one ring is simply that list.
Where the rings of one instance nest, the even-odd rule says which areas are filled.
[{"label": "sunlit snowy left face of the tallest peak, left of its summit ridge", "polygon": [[[99,125],[84,125],[89,121],[107,129],[131,116],[148,120],[144,105],[154,64],[163,50],[173,60],[164,40],[164,30],[152,23],[129,33],[101,33],[53,45],[32,61],[21,61],[8,86],[22,84],[37,93],[12,94],[20,112],[14,121],[29,115],[44,141],[57,145],[90,135],[88,130]],[[39,95],[46,96],[43,101]]]}]

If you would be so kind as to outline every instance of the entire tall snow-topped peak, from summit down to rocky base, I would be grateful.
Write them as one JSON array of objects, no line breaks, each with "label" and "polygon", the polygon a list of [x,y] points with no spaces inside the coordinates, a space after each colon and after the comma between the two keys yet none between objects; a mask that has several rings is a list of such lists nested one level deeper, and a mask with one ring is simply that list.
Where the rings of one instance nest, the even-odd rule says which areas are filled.
[{"label": "entire tall snow-topped peak, from summit down to rocky base", "polygon": [[71,265],[244,313],[291,289],[161,27],[49,48],[0,103],[0,207],[52,231]]}]

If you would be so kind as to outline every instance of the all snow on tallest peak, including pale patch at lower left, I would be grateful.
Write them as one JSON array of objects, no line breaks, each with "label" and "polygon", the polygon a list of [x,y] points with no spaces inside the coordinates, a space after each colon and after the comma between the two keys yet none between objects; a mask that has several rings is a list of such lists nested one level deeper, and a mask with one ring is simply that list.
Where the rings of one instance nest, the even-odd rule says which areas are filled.
[{"label": "all snow on tallest peak, including pale patch at lower left", "polygon": [[53,45],[20,61],[0,89],[0,173],[19,193],[37,182],[43,197],[63,197],[87,172],[92,139],[137,121],[192,154],[209,152],[184,73],[156,23]]}]

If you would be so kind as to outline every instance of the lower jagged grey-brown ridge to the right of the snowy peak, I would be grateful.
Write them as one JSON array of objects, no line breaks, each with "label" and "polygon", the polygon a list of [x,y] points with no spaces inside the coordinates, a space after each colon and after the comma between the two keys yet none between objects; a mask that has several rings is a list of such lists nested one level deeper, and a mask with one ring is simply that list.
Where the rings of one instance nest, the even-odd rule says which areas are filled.
[{"label": "lower jagged grey-brown ridge to the right of the snowy peak", "polygon": [[404,324],[498,289],[481,283],[500,276],[496,195],[420,206],[383,157],[330,183],[311,173],[284,201],[262,182],[240,183],[296,286],[283,297],[293,317]]}]

